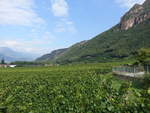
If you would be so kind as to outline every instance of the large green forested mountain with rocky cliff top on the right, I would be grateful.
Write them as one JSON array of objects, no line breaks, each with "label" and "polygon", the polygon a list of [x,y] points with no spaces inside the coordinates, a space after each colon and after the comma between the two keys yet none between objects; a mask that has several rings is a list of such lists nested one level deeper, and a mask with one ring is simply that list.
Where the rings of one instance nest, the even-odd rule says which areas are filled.
[{"label": "large green forested mountain with rocky cliff top on the right", "polygon": [[146,0],[142,5],[135,4],[121,18],[119,24],[91,40],[69,47],[57,58],[49,58],[49,62],[112,61],[129,58],[140,48],[148,47],[150,47],[150,0]]}]

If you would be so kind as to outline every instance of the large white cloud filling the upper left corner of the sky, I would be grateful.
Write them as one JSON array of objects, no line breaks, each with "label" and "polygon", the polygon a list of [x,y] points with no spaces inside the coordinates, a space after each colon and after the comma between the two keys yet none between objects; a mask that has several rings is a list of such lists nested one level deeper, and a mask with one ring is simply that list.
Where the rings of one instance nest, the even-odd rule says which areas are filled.
[{"label": "large white cloud filling the upper left corner of the sky", "polygon": [[31,26],[43,23],[33,8],[33,0],[0,0],[0,24]]}]

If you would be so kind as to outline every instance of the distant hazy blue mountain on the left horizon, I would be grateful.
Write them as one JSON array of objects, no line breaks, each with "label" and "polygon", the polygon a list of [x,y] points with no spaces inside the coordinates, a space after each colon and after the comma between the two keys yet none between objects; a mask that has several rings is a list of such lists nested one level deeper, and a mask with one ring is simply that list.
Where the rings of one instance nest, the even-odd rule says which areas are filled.
[{"label": "distant hazy blue mountain on the left horizon", "polygon": [[0,59],[3,58],[6,62],[30,61],[33,60],[33,55],[17,52],[7,47],[0,47]]}]

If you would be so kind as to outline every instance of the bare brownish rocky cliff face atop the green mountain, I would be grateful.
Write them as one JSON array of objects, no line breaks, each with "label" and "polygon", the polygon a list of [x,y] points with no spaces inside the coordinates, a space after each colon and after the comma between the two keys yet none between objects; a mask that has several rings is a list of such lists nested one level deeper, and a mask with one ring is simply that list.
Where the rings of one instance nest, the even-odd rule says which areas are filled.
[{"label": "bare brownish rocky cliff face atop the green mountain", "polygon": [[121,18],[121,30],[128,30],[129,28],[150,19],[149,7],[150,0],[146,0],[142,5],[135,4],[133,8]]}]

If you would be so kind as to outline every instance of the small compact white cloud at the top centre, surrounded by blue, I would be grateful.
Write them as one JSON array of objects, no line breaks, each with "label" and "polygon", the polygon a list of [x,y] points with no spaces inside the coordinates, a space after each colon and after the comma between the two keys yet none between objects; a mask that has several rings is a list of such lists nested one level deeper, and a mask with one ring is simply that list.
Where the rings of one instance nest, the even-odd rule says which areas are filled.
[{"label": "small compact white cloud at the top centre, surrounded by blue", "polygon": [[51,8],[54,16],[64,17],[69,15],[69,6],[65,0],[51,0]]}]

